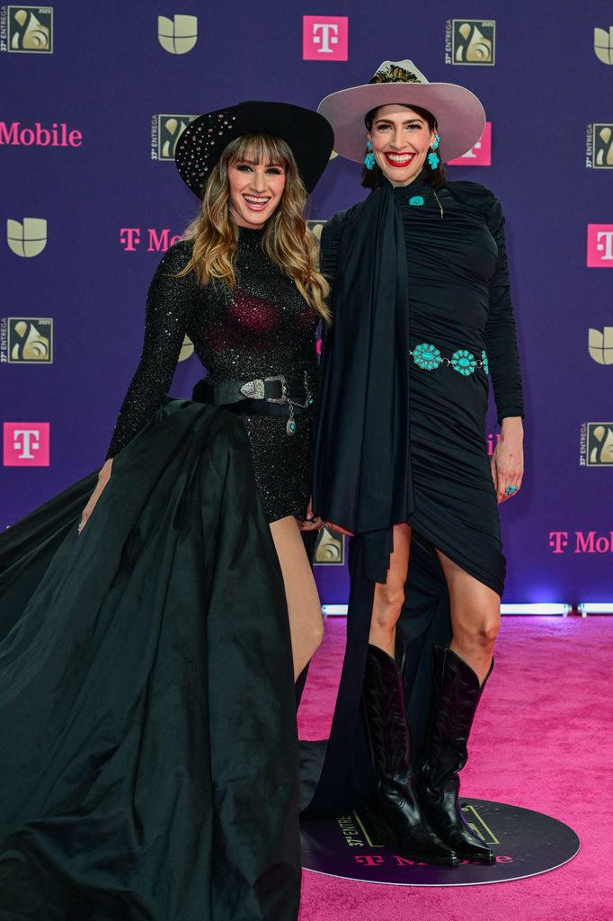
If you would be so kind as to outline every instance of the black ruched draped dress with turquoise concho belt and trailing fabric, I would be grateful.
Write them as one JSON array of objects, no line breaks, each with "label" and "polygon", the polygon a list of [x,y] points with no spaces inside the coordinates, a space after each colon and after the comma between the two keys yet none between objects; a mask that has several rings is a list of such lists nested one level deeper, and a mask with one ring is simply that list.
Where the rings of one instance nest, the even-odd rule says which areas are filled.
[{"label": "black ruched draped dress with turquoise concho belt and trailing fabric", "polygon": [[341,814],[372,788],[358,711],[374,586],[385,581],[392,526],[413,530],[400,618],[413,756],[427,727],[432,645],[450,637],[434,548],[503,593],[488,377],[499,420],[524,414],[503,223],[500,204],[482,186],[448,182],[434,194],[420,177],[397,189],[384,181],[322,234],[333,325],[313,502],[356,536],[348,645],[320,776],[318,753],[305,750],[309,815]]}]

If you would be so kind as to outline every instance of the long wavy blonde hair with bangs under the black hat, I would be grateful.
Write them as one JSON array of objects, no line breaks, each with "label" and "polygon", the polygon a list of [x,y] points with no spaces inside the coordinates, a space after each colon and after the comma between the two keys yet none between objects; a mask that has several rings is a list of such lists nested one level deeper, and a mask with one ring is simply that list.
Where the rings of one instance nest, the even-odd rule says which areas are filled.
[{"label": "long wavy blonde hair with bangs under the black hat", "polygon": [[303,213],[307,190],[290,147],[271,134],[244,134],[226,146],[206,183],[200,211],[183,235],[183,239],[193,240],[193,249],[190,262],[179,275],[193,271],[201,285],[220,281],[230,288],[237,286],[238,227],[229,211],[228,169],[245,159],[283,166],[283,195],[264,227],[262,249],[283,274],[294,280],[307,303],[330,323],[326,304],[330,286],[319,273],[318,242],[307,228]]}]

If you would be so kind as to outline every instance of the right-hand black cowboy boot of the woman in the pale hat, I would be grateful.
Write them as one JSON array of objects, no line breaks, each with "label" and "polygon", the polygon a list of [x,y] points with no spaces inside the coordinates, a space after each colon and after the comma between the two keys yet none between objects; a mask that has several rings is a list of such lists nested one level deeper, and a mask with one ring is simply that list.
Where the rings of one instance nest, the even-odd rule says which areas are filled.
[{"label": "right-hand black cowboy boot of the woman in the pale hat", "polygon": [[434,829],[457,856],[494,863],[492,850],[468,827],[457,801],[459,772],[468,761],[468,736],[485,682],[451,649],[434,647],[434,701],[417,788]]}]

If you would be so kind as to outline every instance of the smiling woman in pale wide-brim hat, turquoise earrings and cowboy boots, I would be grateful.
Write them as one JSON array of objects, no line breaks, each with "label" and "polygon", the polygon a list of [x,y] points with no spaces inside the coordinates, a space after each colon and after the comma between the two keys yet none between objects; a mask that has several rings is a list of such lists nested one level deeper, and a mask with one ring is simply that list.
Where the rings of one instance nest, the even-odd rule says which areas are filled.
[{"label": "smiling woman in pale wide-brim hat, turquoise earrings and cowboy boots", "polygon": [[[462,818],[458,772],[492,671],[505,574],[497,502],[521,486],[524,408],[500,204],[476,183],[447,182],[442,166],[476,144],[485,113],[411,61],[385,62],[319,111],[373,192],[321,238],[333,319],[313,501],[355,538],[348,648],[308,812],[374,794],[395,853],[492,862]],[[492,461],[489,376],[501,424]]]}]

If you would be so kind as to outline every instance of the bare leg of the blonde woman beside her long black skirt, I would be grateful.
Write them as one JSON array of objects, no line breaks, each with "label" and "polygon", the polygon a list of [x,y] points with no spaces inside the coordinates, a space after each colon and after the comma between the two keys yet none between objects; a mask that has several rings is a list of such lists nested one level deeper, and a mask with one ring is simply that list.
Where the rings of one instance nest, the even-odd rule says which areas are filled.
[{"label": "bare leg of the blonde woman beside her long black skirt", "polygon": [[302,533],[295,518],[288,516],[273,521],[271,532],[283,572],[296,680],[323,639],[321,605]]}]

